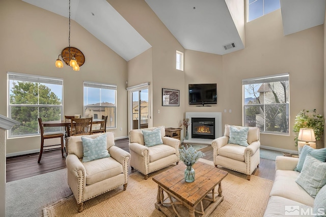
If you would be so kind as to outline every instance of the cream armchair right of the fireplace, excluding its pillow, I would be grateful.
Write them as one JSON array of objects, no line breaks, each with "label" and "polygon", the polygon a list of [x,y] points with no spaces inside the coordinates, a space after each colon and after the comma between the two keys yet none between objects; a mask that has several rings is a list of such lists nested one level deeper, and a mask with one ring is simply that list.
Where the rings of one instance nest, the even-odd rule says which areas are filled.
[{"label": "cream armchair right of the fireplace, excluding its pillow", "polygon": [[[233,126],[237,129],[242,127]],[[224,136],[212,141],[213,161],[215,167],[218,165],[247,174],[247,179],[250,180],[250,175],[258,167],[260,162],[259,156],[259,128],[249,127],[248,131],[248,146],[238,144],[228,144],[230,137],[230,125],[225,125]]]}]

